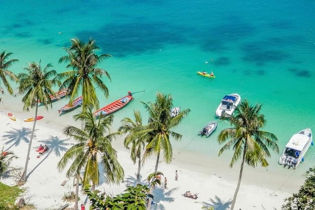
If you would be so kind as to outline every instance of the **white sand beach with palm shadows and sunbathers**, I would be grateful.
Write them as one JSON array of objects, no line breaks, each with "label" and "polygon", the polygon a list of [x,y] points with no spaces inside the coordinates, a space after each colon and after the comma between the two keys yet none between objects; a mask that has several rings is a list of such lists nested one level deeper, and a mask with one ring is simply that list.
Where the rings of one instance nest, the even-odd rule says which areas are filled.
[{"label": "white sand beach with palm shadows and sunbathers", "polygon": [[[18,100],[18,98],[14,98],[14,100]],[[15,115],[16,121],[7,117],[9,110]],[[32,117],[33,111],[26,113],[19,110],[22,108],[7,103],[0,106],[0,147],[13,151],[19,157],[12,162],[11,166],[21,169],[12,173],[11,176],[1,179],[8,185],[15,184],[18,179],[16,176],[22,174],[33,125],[32,122],[23,121],[24,118]],[[56,118],[57,113],[47,112],[41,107],[39,114],[44,118],[36,123],[36,136],[32,142],[28,167],[29,178],[23,185],[27,189],[24,198],[27,203],[34,205],[38,210],[53,210],[67,203],[62,201],[64,193],[75,190],[72,180],[68,180],[64,186],[61,186],[63,180],[66,180],[66,170],[59,173],[57,162],[67,148],[74,143],[73,140],[66,139],[62,134],[63,127],[69,123],[79,126],[79,122],[72,120],[70,116],[73,113]],[[133,165],[131,162],[129,152],[123,148],[122,142],[123,139],[119,139],[113,146],[118,150],[119,160],[125,170],[124,183],[107,184],[102,179],[101,184],[96,187],[96,189],[113,195],[121,193],[127,184],[134,183],[136,177],[137,165]],[[35,151],[40,144],[50,147],[43,155],[39,155]],[[163,185],[156,187],[154,190],[155,204],[152,205],[152,209],[200,210],[202,205],[199,203],[202,203],[211,205],[216,210],[227,210],[236,188],[239,165],[236,164],[233,169],[230,169],[228,164],[222,165],[220,161],[203,160],[204,157],[199,154],[178,154],[179,151],[174,150],[175,159],[172,164],[166,165],[161,161],[159,165],[158,171],[161,171],[168,179],[168,189],[164,189]],[[141,171],[142,180],[154,172],[154,165],[155,157],[146,161]],[[177,181],[174,180],[175,170],[179,172]],[[301,184],[302,182],[293,183],[289,179],[284,181],[282,177],[271,177],[265,169],[246,167],[235,209],[279,210],[284,203],[284,198],[296,192]],[[193,200],[184,197],[183,194],[188,190],[191,193],[197,193],[198,198]],[[86,195],[80,193],[79,197],[79,205],[84,203],[86,207],[89,207]],[[69,204],[69,207],[74,206],[74,203]]]}]

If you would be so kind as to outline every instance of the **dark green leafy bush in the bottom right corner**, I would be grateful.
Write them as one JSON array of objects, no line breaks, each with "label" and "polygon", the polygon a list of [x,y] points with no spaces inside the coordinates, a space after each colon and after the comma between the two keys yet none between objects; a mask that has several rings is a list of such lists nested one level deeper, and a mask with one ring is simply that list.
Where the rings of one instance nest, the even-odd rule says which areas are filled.
[{"label": "dark green leafy bush in the bottom right corner", "polygon": [[282,206],[285,210],[314,210],[315,209],[315,168],[306,171],[306,179],[298,193],[285,198]]}]

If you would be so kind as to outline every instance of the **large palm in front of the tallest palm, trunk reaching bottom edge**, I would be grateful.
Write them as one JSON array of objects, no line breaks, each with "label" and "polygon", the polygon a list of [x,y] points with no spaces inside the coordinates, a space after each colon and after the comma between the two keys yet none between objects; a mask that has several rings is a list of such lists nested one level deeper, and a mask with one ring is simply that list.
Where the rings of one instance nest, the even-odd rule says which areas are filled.
[{"label": "large palm in front of the tallest palm, trunk reaching bottom edge", "polygon": [[[120,134],[119,132],[110,133],[113,116],[96,120],[92,109],[88,107],[87,111],[76,115],[75,120],[82,120],[85,126],[83,129],[74,126],[67,126],[63,129],[63,133],[67,137],[72,137],[77,144],[69,148],[58,162],[59,171],[63,171],[69,160],[73,159],[66,176],[75,177],[78,182],[80,172],[83,170],[83,186],[91,182],[95,186],[99,183],[98,163],[100,161],[106,180],[113,183],[122,181],[124,170],[118,162],[117,151],[111,145],[112,140]],[[75,209],[78,207],[79,191],[79,185],[76,186]]]}]

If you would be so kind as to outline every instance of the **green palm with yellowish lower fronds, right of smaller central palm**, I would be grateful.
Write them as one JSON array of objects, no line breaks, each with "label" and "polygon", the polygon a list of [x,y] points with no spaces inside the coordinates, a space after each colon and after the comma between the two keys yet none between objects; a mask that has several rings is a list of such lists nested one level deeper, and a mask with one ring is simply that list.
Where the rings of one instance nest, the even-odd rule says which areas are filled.
[{"label": "green palm with yellowish lower fronds, right of smaller central palm", "polygon": [[163,157],[166,163],[171,163],[173,158],[173,148],[169,137],[175,140],[181,140],[182,135],[171,130],[177,126],[190,112],[190,109],[181,111],[176,117],[171,116],[173,108],[173,99],[171,95],[157,93],[155,103],[144,103],[144,107],[149,113],[149,123],[145,129],[138,134],[147,134],[148,144],[145,148],[143,161],[153,153],[157,153],[157,162],[155,172],[158,171],[158,162],[160,151],[163,151]]}]

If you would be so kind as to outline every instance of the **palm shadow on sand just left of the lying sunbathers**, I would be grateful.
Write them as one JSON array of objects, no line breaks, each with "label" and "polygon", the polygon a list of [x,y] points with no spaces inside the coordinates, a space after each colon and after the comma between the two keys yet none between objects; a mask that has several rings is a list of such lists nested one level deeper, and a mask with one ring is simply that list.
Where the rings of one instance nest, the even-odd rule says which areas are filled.
[{"label": "palm shadow on sand just left of the lying sunbathers", "polygon": [[[169,189],[168,191],[164,191],[163,186],[156,186],[154,189],[154,205],[151,205],[151,210],[166,210],[165,207],[160,203],[161,201],[165,202],[173,202],[175,199],[173,197],[168,197],[172,194],[173,191],[176,191],[179,187],[175,187]],[[159,196],[156,196],[159,195]]]}]

